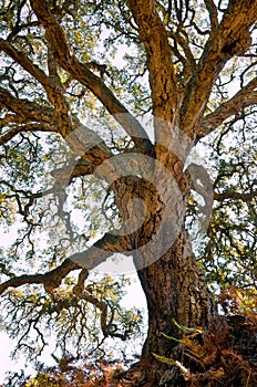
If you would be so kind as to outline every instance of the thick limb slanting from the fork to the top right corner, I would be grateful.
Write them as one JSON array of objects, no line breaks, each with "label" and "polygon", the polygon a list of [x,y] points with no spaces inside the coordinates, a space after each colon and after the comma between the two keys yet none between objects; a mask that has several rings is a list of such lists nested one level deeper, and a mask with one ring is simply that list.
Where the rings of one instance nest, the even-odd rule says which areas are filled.
[{"label": "thick limb slanting from the fork to the top right corner", "polygon": [[250,45],[249,28],[256,21],[256,0],[230,0],[216,33],[210,34],[181,109],[181,128],[189,137],[196,135],[195,127],[222,69],[230,57],[243,54]]}]

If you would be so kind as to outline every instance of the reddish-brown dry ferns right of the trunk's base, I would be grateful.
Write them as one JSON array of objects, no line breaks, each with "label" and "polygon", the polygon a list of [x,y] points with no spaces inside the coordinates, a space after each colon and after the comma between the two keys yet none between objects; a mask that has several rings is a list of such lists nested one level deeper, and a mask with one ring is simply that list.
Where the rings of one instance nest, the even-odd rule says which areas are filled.
[{"label": "reddish-brown dry ferns right of the trunk's base", "polygon": [[[185,332],[178,342],[177,353],[183,353],[187,367],[175,358],[154,354],[169,366],[173,376],[174,367],[179,370],[185,383],[182,386],[255,386],[257,381],[256,359],[256,322],[235,315],[213,317],[208,330],[179,327]],[[173,337],[166,337],[174,339]],[[176,372],[175,370],[175,372]],[[169,375],[169,378],[171,378]],[[172,378],[171,378],[172,379]]]}]

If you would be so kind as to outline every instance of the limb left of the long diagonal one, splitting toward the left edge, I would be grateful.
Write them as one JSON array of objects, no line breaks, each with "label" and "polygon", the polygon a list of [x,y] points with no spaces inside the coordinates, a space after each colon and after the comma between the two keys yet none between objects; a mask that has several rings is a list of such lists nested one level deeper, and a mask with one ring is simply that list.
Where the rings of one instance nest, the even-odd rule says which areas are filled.
[{"label": "limb left of the long diagonal one, splitting toward the left edge", "polygon": [[[66,138],[68,144],[71,146],[71,148],[75,153],[83,153],[83,157],[89,158],[91,161],[96,163],[96,165],[101,164],[104,159],[112,156],[112,153],[109,150],[107,146],[105,146],[102,138],[100,138],[94,132],[88,129],[85,126],[83,126],[83,130],[74,130],[74,135],[70,135],[73,130],[73,124],[76,126],[80,126],[82,128],[82,125],[80,124],[79,119],[75,119],[74,123],[72,123],[71,115],[69,114],[69,105],[64,97],[64,88],[62,87],[61,81],[59,79],[56,67],[54,60],[52,57],[52,50],[49,49],[48,51],[48,65],[49,65],[49,73],[50,76],[47,76],[42,70],[40,70],[23,52],[18,51],[16,48],[13,48],[9,42],[6,42],[4,40],[0,40],[0,49],[2,49],[8,55],[10,55],[14,61],[17,61],[25,71],[28,71],[38,82],[42,84],[44,87],[49,101],[53,104],[54,111],[51,112],[49,108],[48,112],[51,112],[51,117],[48,116],[48,122],[52,123],[54,119],[54,114],[58,118],[58,127],[55,127],[55,132],[61,133],[63,137]],[[8,91],[0,87],[0,97],[3,97],[3,105],[9,107],[11,111],[13,111],[19,118],[20,122],[28,122],[28,118],[30,119],[37,119],[41,121],[44,119],[45,116],[42,116],[42,113],[44,112],[41,107],[39,107],[37,104],[31,103],[28,100],[19,100],[17,97],[13,97]],[[9,116],[10,119],[12,118]],[[32,127],[31,127],[32,128]],[[9,135],[7,134],[6,138],[11,138],[16,133],[22,132],[23,128],[16,128],[9,132]],[[29,128],[28,128],[29,130]],[[83,142],[80,144],[81,138],[79,139],[79,143],[76,140],[78,133],[80,135],[83,135]],[[69,135],[69,136],[66,136]],[[90,151],[90,147],[88,146],[89,142],[91,142],[92,136],[94,137],[94,148],[93,151]],[[4,138],[4,139],[6,139]],[[2,140],[4,140],[2,139]],[[85,146],[84,149],[82,149],[82,144]]]}]

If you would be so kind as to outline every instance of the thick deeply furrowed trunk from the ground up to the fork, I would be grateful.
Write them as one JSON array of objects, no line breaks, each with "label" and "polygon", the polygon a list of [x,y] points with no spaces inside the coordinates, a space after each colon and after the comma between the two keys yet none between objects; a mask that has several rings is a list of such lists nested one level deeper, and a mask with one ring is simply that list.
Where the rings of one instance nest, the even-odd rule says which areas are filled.
[{"label": "thick deeply furrowed trunk from the ground up to the fork", "polygon": [[[183,172],[175,179],[172,169],[155,160],[136,161],[138,170],[133,165],[135,174],[115,180],[113,188],[124,221],[123,232],[131,241],[128,253],[133,254],[147,300],[148,334],[142,353],[142,383],[156,387],[163,385],[167,366],[153,354],[179,362],[183,356],[179,343],[164,335],[179,339],[183,330],[178,326],[205,327],[209,302],[185,231],[188,189],[181,188]],[[167,386],[183,386],[183,379],[177,380],[175,374],[171,376],[173,380]]]}]

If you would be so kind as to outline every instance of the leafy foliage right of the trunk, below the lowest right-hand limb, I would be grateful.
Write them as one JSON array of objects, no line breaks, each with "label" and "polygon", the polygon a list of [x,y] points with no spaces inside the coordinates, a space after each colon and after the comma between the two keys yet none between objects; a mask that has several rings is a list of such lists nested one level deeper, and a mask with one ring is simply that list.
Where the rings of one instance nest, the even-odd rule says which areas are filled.
[{"label": "leafy foliage right of the trunk, below the lowest right-hand limb", "polygon": [[187,209],[191,217],[188,232],[192,233],[193,243],[196,243],[197,260],[212,291],[216,294],[229,293],[229,289],[241,291],[244,301],[241,297],[238,307],[243,313],[247,303],[251,304],[251,313],[257,311],[257,165],[253,157],[253,146],[256,143],[256,130],[250,129],[256,126],[255,116],[250,115],[253,113],[255,108],[241,113],[236,125],[234,121],[226,123],[218,134],[209,135],[199,145],[199,151],[208,157],[206,168],[214,188],[214,206],[206,236],[201,234],[198,229],[193,231],[198,209],[193,196]]}]

